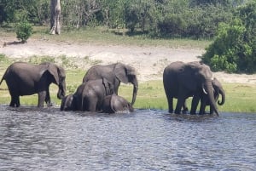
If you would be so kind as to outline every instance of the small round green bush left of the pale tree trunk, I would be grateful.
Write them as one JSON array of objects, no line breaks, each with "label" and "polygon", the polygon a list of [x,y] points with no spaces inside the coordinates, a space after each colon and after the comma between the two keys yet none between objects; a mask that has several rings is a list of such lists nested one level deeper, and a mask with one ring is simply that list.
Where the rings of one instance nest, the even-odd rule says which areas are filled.
[{"label": "small round green bush left of the pale tree trunk", "polygon": [[32,25],[27,21],[23,21],[16,26],[16,35],[21,43],[26,43],[26,40],[32,35]]}]

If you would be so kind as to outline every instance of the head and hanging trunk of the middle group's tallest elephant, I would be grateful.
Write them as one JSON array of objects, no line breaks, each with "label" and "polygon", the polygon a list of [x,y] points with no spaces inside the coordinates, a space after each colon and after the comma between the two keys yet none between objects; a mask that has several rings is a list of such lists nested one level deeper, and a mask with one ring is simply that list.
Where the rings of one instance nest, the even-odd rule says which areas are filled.
[{"label": "head and hanging trunk of the middle group's tallest elephant", "polygon": [[131,66],[117,63],[114,67],[114,73],[120,82],[133,84],[133,93],[131,100],[131,105],[133,105],[137,97],[138,89],[137,75],[135,69]]}]

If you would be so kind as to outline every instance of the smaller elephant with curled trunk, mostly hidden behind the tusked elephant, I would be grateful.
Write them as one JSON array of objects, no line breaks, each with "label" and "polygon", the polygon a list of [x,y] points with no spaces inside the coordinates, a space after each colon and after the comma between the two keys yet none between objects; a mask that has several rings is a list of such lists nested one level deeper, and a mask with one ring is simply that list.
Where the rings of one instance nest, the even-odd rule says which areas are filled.
[{"label": "smaller elephant with curled trunk, mostly hidden behind the tusked elephant", "polygon": [[[225,91],[224,88],[222,87],[221,83],[218,81],[218,79],[216,77],[213,78],[212,80],[212,87],[213,87],[213,96],[214,96],[214,100],[215,102],[218,101],[218,105],[224,105],[225,103]],[[218,100],[219,98],[219,94],[221,94],[222,99],[221,101]],[[212,106],[210,104],[210,100],[207,96],[207,94],[205,94],[203,91],[200,92],[200,97],[196,97],[196,95],[194,96],[194,98],[198,98],[197,99],[197,104],[199,102],[199,99],[201,100],[201,107],[200,107],[200,111],[199,114],[205,114],[206,113],[206,106],[210,105],[210,114],[213,114],[213,109]],[[194,109],[195,110],[195,109]],[[195,113],[195,111],[191,111],[193,114]]]}]

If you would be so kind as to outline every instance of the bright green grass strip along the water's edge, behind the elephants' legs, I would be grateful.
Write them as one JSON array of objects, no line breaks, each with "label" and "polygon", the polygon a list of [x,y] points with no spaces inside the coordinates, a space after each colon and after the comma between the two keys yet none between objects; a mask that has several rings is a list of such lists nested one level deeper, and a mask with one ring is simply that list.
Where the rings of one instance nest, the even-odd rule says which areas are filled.
[{"label": "bright green grass strip along the water's edge, behind the elephants' legs", "polygon": [[[1,76],[3,71],[1,71]],[[76,88],[82,83],[85,71],[83,70],[67,70],[67,94],[75,92]],[[256,85],[241,83],[223,83],[226,91],[226,102],[224,105],[218,105],[219,111],[227,112],[251,112],[256,113]],[[10,96],[5,82],[2,83],[0,90],[0,104],[9,104]],[[119,87],[119,95],[131,101],[132,94],[131,84],[121,84]],[[61,100],[56,98],[57,86],[51,84],[50,95],[55,105],[60,105]],[[37,105],[38,95],[23,96],[20,98],[21,105]],[[174,105],[176,100],[174,100]],[[191,98],[188,100],[190,106]],[[161,80],[148,81],[139,83],[137,92],[137,100],[135,108],[143,109],[161,109],[167,110],[166,94]],[[198,108],[199,109],[199,108]],[[207,109],[208,110],[208,109]]]}]

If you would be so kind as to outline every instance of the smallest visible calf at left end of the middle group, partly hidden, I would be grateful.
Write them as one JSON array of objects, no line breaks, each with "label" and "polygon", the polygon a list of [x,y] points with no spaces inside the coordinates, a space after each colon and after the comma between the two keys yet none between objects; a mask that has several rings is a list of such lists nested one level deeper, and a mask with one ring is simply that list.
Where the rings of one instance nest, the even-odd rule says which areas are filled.
[{"label": "smallest visible calf at left end of the middle group, partly hidden", "polygon": [[78,106],[74,94],[68,94],[61,100],[61,111],[77,111]]}]

